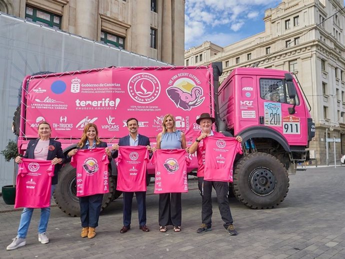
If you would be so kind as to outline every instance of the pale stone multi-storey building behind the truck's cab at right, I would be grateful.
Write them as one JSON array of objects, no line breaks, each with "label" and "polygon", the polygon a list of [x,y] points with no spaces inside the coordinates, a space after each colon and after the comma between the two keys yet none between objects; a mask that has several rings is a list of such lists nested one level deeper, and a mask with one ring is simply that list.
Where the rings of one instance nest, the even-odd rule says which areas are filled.
[{"label": "pale stone multi-storey building behind the truck's cab at right", "polygon": [[[224,79],[238,66],[289,70],[310,104],[316,134],[311,156],[326,163],[326,138],[337,138],[335,159],[345,153],[345,8],[342,0],[282,0],[265,10],[265,30],[225,47],[205,41],[184,52],[185,65],[221,61]],[[334,162],[333,142],[328,143]]]}]

